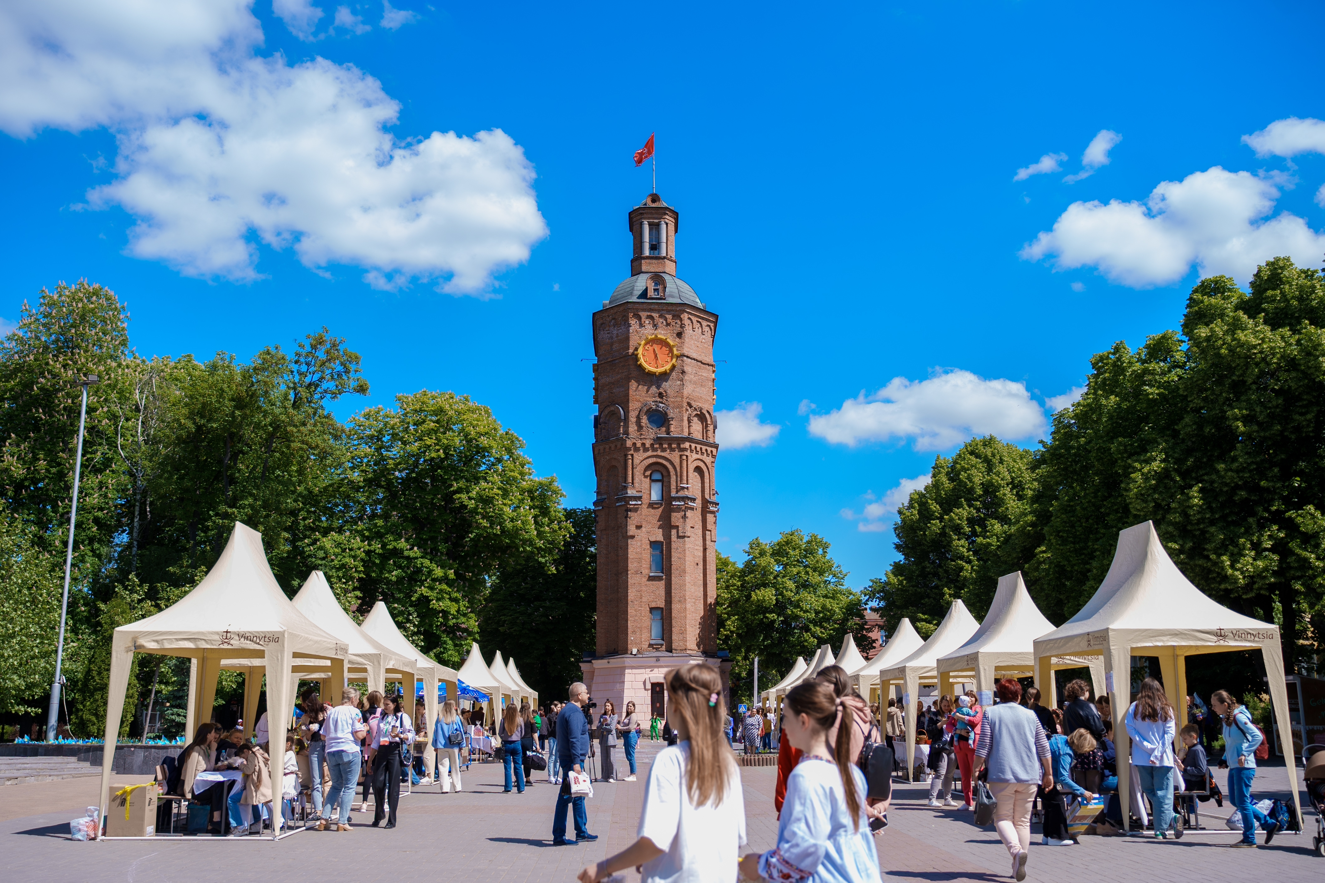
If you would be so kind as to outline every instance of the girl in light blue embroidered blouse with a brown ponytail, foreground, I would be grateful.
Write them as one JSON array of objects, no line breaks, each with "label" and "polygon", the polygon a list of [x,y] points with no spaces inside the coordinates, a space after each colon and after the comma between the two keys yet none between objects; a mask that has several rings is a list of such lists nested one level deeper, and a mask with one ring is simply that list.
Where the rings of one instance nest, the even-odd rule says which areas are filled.
[{"label": "girl in light blue embroidered blouse with a brown ponytail, foreground", "polygon": [[[804,756],[787,777],[778,847],[741,860],[741,876],[774,883],[877,880],[878,853],[865,814],[865,777],[852,763],[848,706],[823,680],[787,694],[784,735]],[[837,744],[828,732],[837,729]]]}]

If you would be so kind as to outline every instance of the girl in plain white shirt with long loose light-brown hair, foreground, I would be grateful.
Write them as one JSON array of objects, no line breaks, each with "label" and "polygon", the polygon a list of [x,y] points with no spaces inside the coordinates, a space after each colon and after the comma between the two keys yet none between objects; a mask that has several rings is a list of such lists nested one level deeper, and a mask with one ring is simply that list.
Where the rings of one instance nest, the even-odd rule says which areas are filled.
[{"label": "girl in plain white shirt with long loose light-brown hair, foreground", "polygon": [[664,748],[644,785],[639,839],[580,871],[580,883],[641,867],[641,883],[731,883],[745,843],[741,773],[722,736],[726,703],[717,669],[692,663],[665,678],[677,744]]}]

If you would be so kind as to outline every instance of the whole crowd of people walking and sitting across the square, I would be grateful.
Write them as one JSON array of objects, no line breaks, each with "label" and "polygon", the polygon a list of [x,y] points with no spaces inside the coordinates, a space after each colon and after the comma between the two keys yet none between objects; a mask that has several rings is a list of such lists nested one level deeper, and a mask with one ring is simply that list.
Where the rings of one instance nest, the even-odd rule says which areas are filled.
[{"label": "whole crowd of people walking and sitting across the square", "polygon": [[[762,706],[729,715],[721,676],[710,666],[669,671],[665,691],[666,716],[651,715],[649,739],[662,739],[666,747],[648,770],[637,839],[586,867],[579,875],[583,883],[633,866],[651,882],[708,880],[717,879],[710,868],[731,864],[749,880],[878,879],[873,837],[888,825],[890,798],[886,784],[880,789],[874,781],[868,759],[881,743],[892,752],[884,778],[904,772],[906,720],[898,702],[869,706],[837,666],[828,666],[786,695],[776,728],[771,710]],[[1132,770],[1132,781],[1124,784],[1132,794],[1128,827],[1147,830],[1157,839],[1178,838],[1179,812],[1198,800],[1222,806],[1224,796],[1214,781],[1208,753],[1222,737],[1218,760],[1228,768],[1228,798],[1242,819],[1238,846],[1256,846],[1257,829],[1269,843],[1283,822],[1261,813],[1251,797],[1257,751],[1264,756],[1264,733],[1226,691],[1216,691],[1208,706],[1190,696],[1185,711],[1181,720],[1162,684],[1147,678],[1122,714]],[[1124,827],[1113,710],[1106,696],[1092,700],[1086,682],[1068,683],[1059,708],[1041,704],[1035,687],[1023,690],[1018,680],[1003,679],[990,704],[970,691],[938,696],[929,706],[921,700],[916,712],[916,741],[926,745],[929,806],[974,809],[977,782],[983,782],[1014,879],[1026,878],[1036,806],[1043,819],[1041,846],[1077,843],[1085,827],[1083,817],[1090,819],[1088,833],[1120,833]],[[195,797],[203,772],[238,770],[237,786],[213,789],[209,800],[216,815],[224,814],[233,834],[242,835],[260,823],[260,808],[268,818],[272,813],[289,818],[307,780],[303,793],[311,801],[310,821],[318,830],[343,831],[348,830],[362,769],[359,810],[367,809],[371,789],[372,826],[395,827],[404,777],[432,781],[412,763],[416,732],[425,733],[436,749],[441,793],[460,792],[461,768],[474,739],[488,733],[482,714],[481,707],[461,710],[445,702],[429,729],[421,703],[409,715],[399,696],[374,691],[360,699],[358,691],[346,688],[333,707],[321,702],[317,690],[309,690],[298,707],[298,725],[286,737],[278,776],[273,777],[270,745],[245,741],[238,729],[207,723],[180,756],[178,793]],[[265,736],[266,728],[258,732]],[[765,853],[739,857],[746,842],[745,805],[733,748],[771,748],[774,732],[778,842]],[[551,842],[567,846],[598,839],[590,831],[586,804],[592,793],[590,757],[596,755],[599,761],[599,781],[635,781],[644,727],[633,702],[621,712],[612,699],[604,699],[599,708],[588,688],[575,683],[568,702],[554,702],[546,710],[506,706],[490,724],[490,736],[500,745],[505,793],[523,793],[534,786],[533,773],[543,770],[546,781],[559,786]],[[624,749],[624,764],[616,757],[617,748]],[[1083,815],[1083,808],[1096,812]]]}]

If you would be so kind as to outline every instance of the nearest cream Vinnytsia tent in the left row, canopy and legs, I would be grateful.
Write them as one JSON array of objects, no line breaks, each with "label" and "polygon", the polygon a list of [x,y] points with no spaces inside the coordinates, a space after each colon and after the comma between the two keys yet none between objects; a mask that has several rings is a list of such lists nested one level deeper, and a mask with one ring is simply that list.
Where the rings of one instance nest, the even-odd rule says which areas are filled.
[{"label": "nearest cream Vinnytsia tent in the left row, canopy and legs", "polygon": [[[189,657],[189,708],[193,721],[211,719],[216,679],[224,659],[261,661],[266,673],[270,741],[285,745],[286,721],[294,712],[297,667],[330,669],[344,686],[344,641],[327,633],[285,596],[262,552],[262,535],[235,523],[216,565],[192,592],[146,620],[115,629],[106,702],[106,751],[102,759],[101,809],[110,800],[110,773],[125,707],[125,688],[134,653]],[[188,733],[192,739],[193,733]],[[274,829],[274,831],[278,827]],[[276,835],[273,833],[273,835]]]}]

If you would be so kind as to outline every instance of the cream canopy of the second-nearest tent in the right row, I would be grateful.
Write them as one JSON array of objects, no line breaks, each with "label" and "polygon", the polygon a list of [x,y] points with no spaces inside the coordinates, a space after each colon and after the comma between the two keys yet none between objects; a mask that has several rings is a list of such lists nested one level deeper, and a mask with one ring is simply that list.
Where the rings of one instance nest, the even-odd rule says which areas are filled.
[{"label": "cream canopy of the second-nearest tent in the right row", "polygon": [[[1003,676],[1031,676],[1035,674],[1035,639],[1053,631],[1053,624],[1045,618],[1031,600],[1022,572],[1016,571],[999,577],[998,590],[990,604],[984,622],[975,630],[971,639],[961,647],[941,657],[935,662],[938,670],[938,691],[949,692],[955,674],[970,674],[977,690],[994,690],[994,683]],[[1104,690],[1104,665],[1094,657],[1056,657],[1055,669],[1077,669],[1088,666],[1094,682],[1094,692]],[[1044,706],[1057,704],[1052,692],[1044,698]]]}]

